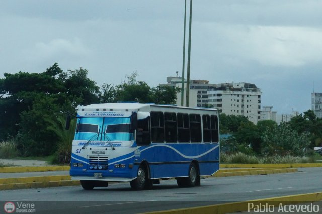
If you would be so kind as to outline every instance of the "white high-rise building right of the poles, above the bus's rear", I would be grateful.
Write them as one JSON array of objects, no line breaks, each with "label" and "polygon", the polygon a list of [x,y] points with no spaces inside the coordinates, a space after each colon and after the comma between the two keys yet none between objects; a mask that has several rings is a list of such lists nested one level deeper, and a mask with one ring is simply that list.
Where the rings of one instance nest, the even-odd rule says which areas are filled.
[{"label": "white high-rise building right of the poles, above the bus's rear", "polygon": [[254,84],[221,83],[208,91],[208,104],[226,115],[242,115],[257,124],[261,119],[261,95]]}]

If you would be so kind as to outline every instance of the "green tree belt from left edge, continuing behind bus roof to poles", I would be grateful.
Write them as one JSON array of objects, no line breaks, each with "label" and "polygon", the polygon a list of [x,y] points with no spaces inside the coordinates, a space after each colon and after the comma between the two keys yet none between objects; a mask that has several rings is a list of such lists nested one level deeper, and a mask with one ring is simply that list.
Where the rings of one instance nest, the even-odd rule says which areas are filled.
[{"label": "green tree belt from left edge, continuing behind bus roof to poles", "polygon": [[[43,73],[5,73],[0,79],[0,118],[5,119],[0,120],[0,140],[14,137],[22,156],[55,153],[58,162],[68,162],[71,141],[63,140],[67,137],[62,136],[66,133],[61,117],[74,113],[76,106],[116,101],[172,104],[176,100],[176,89],[151,89],[136,80],[136,72],[120,85],[103,84],[101,88],[87,75],[83,68],[63,72],[57,63]],[[68,135],[73,132],[70,128]]]}]

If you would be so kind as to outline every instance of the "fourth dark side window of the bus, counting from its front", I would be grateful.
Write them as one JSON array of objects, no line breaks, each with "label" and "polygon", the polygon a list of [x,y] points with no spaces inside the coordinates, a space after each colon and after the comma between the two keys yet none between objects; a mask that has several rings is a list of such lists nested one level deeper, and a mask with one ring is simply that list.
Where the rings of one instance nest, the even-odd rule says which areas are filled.
[{"label": "fourth dark side window of the bus, counting from its front", "polygon": [[179,143],[190,142],[189,115],[178,113],[178,141]]}]

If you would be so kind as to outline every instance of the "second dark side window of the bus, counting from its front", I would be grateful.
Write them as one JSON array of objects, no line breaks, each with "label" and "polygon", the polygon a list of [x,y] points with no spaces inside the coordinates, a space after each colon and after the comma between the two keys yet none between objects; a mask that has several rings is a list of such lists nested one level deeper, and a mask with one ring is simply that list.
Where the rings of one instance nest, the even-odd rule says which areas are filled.
[{"label": "second dark side window of the bus, counting from its front", "polygon": [[162,112],[151,112],[152,142],[165,141],[164,118]]}]

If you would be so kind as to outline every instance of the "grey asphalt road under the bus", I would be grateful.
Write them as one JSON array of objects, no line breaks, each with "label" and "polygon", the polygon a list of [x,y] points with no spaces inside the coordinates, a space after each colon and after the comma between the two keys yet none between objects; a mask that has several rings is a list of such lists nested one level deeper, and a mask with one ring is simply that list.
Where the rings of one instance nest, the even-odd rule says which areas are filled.
[{"label": "grey asphalt road under the bus", "polygon": [[145,191],[132,191],[129,183],[91,191],[80,186],[6,190],[0,201],[29,201],[37,213],[141,213],[322,192],[321,177],[322,168],[300,168],[297,173],[206,178],[194,188],[167,180]]}]

